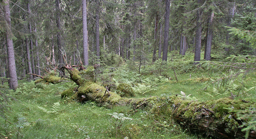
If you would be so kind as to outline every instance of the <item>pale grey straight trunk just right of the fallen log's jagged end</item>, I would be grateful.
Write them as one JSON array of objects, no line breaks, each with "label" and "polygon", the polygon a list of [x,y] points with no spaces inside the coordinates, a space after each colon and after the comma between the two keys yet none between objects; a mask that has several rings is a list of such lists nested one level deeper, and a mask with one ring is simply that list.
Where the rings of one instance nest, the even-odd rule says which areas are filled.
[{"label": "pale grey straight trunk just right of the fallen log's jagged end", "polygon": [[83,12],[82,13],[82,18],[83,18],[83,64],[86,66],[86,65],[89,65],[86,0],[83,0],[82,3],[83,3],[83,10],[82,10],[82,12]]}]

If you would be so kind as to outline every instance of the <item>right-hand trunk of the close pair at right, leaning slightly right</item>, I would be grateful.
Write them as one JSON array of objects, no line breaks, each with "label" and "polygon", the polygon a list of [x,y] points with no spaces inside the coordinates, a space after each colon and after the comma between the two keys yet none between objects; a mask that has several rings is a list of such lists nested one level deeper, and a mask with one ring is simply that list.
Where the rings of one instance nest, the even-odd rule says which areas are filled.
[{"label": "right-hand trunk of the close pair at right, leaning slightly right", "polygon": [[213,34],[212,34],[213,18],[214,18],[214,12],[211,13],[209,24],[208,24],[205,60],[211,60],[211,42],[212,42],[212,36],[213,36]]}]

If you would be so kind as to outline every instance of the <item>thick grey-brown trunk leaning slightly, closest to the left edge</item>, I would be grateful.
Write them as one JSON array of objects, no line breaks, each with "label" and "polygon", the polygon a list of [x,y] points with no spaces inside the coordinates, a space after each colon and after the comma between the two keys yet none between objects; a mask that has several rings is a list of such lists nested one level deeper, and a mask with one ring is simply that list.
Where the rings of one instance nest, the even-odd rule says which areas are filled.
[{"label": "thick grey-brown trunk leaning slightly, closest to the left edge", "polygon": [[14,48],[13,48],[13,34],[11,29],[11,13],[9,1],[4,0],[3,10],[4,18],[6,21],[6,45],[7,45],[7,55],[8,55],[8,67],[10,75],[10,89],[16,89],[18,87],[18,78],[16,73],[15,57],[14,57]]}]

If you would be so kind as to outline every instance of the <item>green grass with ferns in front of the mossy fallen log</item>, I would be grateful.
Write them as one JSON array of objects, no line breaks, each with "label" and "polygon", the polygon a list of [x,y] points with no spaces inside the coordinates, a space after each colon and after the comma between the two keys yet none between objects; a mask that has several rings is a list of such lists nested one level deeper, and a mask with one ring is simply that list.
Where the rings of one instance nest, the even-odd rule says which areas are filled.
[{"label": "green grass with ferns in front of the mossy fallen log", "polygon": [[[197,139],[188,131],[181,129],[175,122],[155,121],[153,116],[145,111],[130,113],[128,107],[106,109],[98,107],[93,102],[84,104],[75,101],[64,101],[60,93],[73,83],[49,84],[44,88],[35,88],[33,82],[20,83],[20,88],[9,95],[17,100],[9,103],[9,112],[5,115],[8,121],[0,117],[0,138],[11,139]],[[53,104],[59,102],[58,108]],[[40,109],[41,108],[41,109]],[[56,111],[47,113],[42,110]],[[133,120],[122,121],[116,134],[115,118],[111,113],[123,113]],[[19,121],[19,118],[25,121]],[[24,124],[19,128],[18,122]],[[18,133],[19,131],[19,133]],[[117,136],[117,137],[116,137]]]}]

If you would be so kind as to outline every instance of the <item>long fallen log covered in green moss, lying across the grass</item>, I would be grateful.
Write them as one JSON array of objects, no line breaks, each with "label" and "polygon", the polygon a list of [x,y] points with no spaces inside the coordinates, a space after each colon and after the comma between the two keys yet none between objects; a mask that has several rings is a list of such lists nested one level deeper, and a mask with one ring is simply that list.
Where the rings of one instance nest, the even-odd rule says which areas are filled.
[{"label": "long fallen log covered in green moss, lying across the grass", "polygon": [[[90,68],[80,72],[68,66],[65,66],[65,69],[70,73],[71,80],[79,86],[77,97],[81,101],[90,100],[107,107],[129,105],[132,110],[147,107],[150,108],[155,119],[163,118],[170,122],[175,120],[190,131],[214,138],[244,138],[245,132],[241,131],[239,126],[248,121],[239,120],[236,110],[256,106],[255,103],[245,103],[229,98],[197,102],[177,96],[135,99],[123,98],[113,92],[109,92],[109,96],[105,93],[106,88],[82,77],[83,74],[90,73]],[[250,131],[249,139],[255,138],[255,131]]]}]

